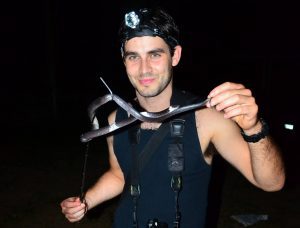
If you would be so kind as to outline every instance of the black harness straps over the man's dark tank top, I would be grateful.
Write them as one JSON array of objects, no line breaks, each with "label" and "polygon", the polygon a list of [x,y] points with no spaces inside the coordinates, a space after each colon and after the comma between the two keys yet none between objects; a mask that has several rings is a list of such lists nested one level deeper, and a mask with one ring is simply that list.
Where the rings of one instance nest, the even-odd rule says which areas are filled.
[{"label": "black harness straps over the man's dark tank top", "polygon": [[[139,173],[143,170],[147,162],[150,160],[162,140],[171,133],[171,142],[168,145],[168,170],[172,173],[171,188],[175,193],[175,220],[174,228],[180,228],[181,213],[179,210],[179,192],[182,189],[182,171],[184,170],[184,154],[183,154],[183,119],[175,119],[170,123],[163,123],[160,128],[152,135],[143,151],[139,154],[137,145],[140,141],[140,128],[134,126],[129,130],[129,141],[132,147],[132,164],[130,173],[130,195],[133,200],[133,227],[138,228],[137,204],[141,194],[139,186]],[[169,128],[169,129],[168,129]]]}]

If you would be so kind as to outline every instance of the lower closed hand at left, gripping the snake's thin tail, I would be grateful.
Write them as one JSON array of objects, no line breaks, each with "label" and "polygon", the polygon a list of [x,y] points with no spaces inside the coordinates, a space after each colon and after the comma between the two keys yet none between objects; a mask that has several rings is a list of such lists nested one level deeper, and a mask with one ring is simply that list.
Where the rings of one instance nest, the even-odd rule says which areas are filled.
[{"label": "lower closed hand at left, gripping the snake's thin tail", "polygon": [[65,199],[61,202],[60,206],[62,213],[70,222],[77,222],[81,220],[87,211],[87,205],[82,203],[79,197],[70,197]]}]

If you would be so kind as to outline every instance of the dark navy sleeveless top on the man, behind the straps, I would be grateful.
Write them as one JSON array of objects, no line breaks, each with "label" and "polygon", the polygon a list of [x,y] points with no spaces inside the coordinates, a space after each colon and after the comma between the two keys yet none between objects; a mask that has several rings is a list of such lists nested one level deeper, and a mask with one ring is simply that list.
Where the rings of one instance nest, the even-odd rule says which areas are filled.
[{"label": "dark navy sleeveless top on the man, behind the straps", "polygon": [[[182,92],[174,92],[171,104],[183,105],[182,101],[188,96]],[[128,118],[127,113],[119,109],[116,122]],[[181,118],[181,117],[178,117]],[[183,187],[179,195],[179,207],[182,214],[181,228],[201,228],[205,224],[208,185],[211,166],[202,155],[197,135],[195,113],[192,111],[184,114],[185,131],[183,136],[184,146],[184,171],[182,172]],[[140,143],[137,147],[142,151],[154,130],[141,129]],[[174,191],[171,189],[172,174],[168,170],[168,145],[170,133],[167,134],[157,151],[150,158],[145,168],[139,174],[141,194],[138,199],[139,227],[147,227],[149,219],[158,219],[173,227],[175,217]],[[131,170],[131,145],[128,141],[128,130],[114,135],[114,152],[123,171],[126,182],[130,181],[128,174]],[[130,183],[126,183],[125,186]],[[132,227],[133,202],[130,192],[123,191],[119,206],[115,212],[114,228]]]}]

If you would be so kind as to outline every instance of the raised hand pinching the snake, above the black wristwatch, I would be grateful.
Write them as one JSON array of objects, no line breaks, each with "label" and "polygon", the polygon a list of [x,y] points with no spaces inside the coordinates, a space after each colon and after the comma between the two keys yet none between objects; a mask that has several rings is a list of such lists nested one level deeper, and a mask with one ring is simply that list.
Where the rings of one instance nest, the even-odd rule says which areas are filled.
[{"label": "raised hand pinching the snake, above the black wristwatch", "polygon": [[224,118],[234,120],[243,130],[253,128],[257,120],[258,106],[251,90],[242,84],[225,82],[214,88],[208,95],[207,107],[215,106],[224,112]]}]

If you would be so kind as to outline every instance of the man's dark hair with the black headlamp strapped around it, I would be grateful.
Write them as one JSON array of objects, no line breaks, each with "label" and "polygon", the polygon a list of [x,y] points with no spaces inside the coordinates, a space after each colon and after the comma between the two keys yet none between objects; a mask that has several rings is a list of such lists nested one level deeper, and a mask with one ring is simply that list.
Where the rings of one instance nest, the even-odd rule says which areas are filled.
[{"label": "man's dark hair with the black headlamp strapped around it", "polygon": [[144,8],[125,15],[119,29],[122,53],[127,40],[141,36],[161,37],[168,44],[172,55],[175,46],[179,44],[179,29],[174,19],[160,8]]}]

